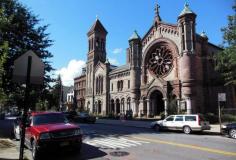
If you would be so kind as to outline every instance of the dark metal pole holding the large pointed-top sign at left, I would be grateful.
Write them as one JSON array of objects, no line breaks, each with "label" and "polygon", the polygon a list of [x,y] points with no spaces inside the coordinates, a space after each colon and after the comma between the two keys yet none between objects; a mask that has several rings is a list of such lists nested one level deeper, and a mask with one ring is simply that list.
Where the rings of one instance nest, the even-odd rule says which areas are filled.
[{"label": "dark metal pole holding the large pointed-top sign at left", "polygon": [[27,76],[26,76],[26,87],[25,87],[25,99],[24,99],[24,110],[23,110],[23,118],[22,118],[22,131],[20,138],[20,155],[19,159],[23,160],[24,157],[24,144],[25,144],[25,128],[26,128],[26,119],[27,119],[27,111],[28,111],[28,98],[30,92],[30,72],[31,72],[31,64],[32,57],[28,57],[28,65],[27,65]]}]

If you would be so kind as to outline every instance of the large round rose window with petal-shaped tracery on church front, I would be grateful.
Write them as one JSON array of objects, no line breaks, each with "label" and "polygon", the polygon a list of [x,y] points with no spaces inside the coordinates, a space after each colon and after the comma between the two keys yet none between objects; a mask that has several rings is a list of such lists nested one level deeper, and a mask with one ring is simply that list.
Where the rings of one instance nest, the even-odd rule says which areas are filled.
[{"label": "large round rose window with petal-shaped tracery on church front", "polygon": [[173,56],[171,50],[161,46],[152,50],[147,59],[148,69],[157,77],[168,74],[173,68]]}]

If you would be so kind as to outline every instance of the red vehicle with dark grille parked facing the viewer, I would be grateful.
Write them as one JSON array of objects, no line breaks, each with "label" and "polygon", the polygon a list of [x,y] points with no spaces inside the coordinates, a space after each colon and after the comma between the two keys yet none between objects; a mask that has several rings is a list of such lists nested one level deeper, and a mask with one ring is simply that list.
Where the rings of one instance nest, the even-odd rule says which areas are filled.
[{"label": "red vehicle with dark grille parked facing the viewer", "polygon": [[25,131],[25,145],[32,158],[38,159],[43,151],[74,147],[80,152],[82,133],[78,125],[69,123],[60,112],[32,112]]}]

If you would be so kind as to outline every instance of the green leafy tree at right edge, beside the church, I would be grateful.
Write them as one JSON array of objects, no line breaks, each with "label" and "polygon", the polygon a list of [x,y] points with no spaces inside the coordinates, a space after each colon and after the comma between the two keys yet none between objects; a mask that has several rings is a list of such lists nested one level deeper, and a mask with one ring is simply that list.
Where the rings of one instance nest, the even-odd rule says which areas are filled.
[{"label": "green leafy tree at right edge, beside the church", "polygon": [[228,26],[221,29],[224,50],[215,57],[215,69],[221,73],[225,85],[236,85],[236,4],[232,8],[235,14],[228,16]]}]

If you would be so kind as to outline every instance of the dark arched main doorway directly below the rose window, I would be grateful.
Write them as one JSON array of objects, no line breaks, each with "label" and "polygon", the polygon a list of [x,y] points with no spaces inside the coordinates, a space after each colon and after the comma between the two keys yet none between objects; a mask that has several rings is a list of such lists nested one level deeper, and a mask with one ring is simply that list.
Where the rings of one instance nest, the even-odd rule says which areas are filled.
[{"label": "dark arched main doorway directly below the rose window", "polygon": [[153,116],[159,116],[165,111],[163,95],[160,91],[155,90],[150,95],[150,113]]}]

